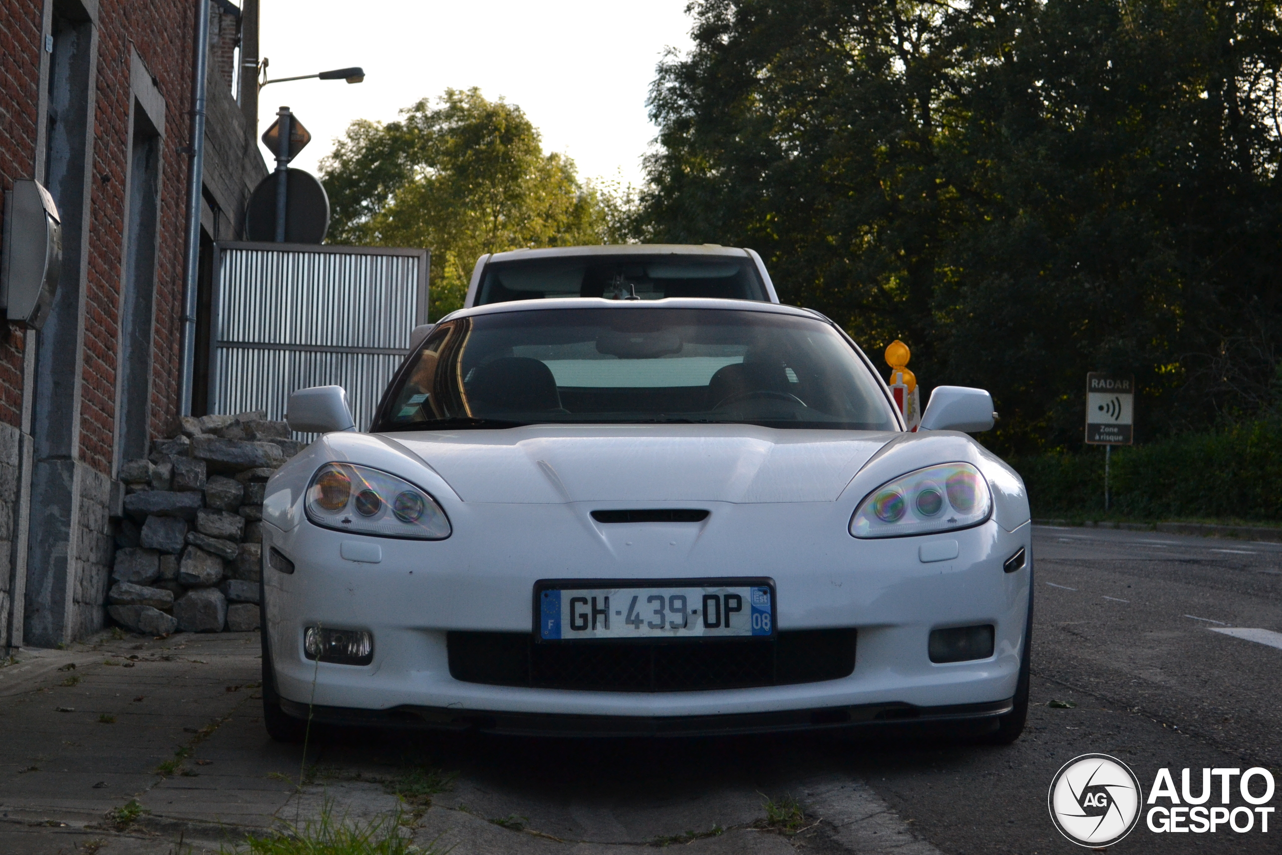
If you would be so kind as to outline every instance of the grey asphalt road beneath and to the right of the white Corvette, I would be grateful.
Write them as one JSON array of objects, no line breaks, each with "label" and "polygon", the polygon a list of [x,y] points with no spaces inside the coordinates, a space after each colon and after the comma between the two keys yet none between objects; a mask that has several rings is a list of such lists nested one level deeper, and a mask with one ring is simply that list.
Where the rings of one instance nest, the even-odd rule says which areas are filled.
[{"label": "grey asphalt road beneath and to the right of the white Corvette", "polygon": [[[1279,783],[1270,804],[1282,805],[1282,650],[1214,632],[1282,631],[1282,545],[1038,527],[1033,555],[1033,706],[1013,746],[874,736],[428,741],[420,750],[431,761],[459,773],[436,804],[515,817],[567,841],[635,843],[745,829],[764,799],[792,797],[810,828],[769,846],[764,834],[741,836],[715,851],[753,842],[751,851],[1073,852],[1082,850],[1047,817],[1047,787],[1072,758],[1104,752],[1127,763],[1146,793],[1160,768],[1177,787],[1191,768],[1195,792],[1204,767],[1270,768]],[[391,760],[404,749],[358,751],[336,740],[322,752],[342,767],[358,752]],[[1229,806],[1245,804],[1235,795]],[[878,811],[885,826],[851,838]],[[1269,833],[1256,823],[1250,833],[1158,834],[1141,822],[1113,849],[1278,852],[1279,838],[1282,818]]]}]

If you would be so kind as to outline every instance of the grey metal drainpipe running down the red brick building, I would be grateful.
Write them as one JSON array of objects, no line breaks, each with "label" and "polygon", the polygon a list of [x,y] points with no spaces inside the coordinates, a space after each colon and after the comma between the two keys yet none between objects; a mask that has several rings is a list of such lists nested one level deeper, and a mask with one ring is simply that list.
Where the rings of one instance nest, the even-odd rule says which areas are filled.
[{"label": "grey metal drainpipe running down the red brick building", "polygon": [[182,377],[178,396],[191,415],[196,370],[196,285],[200,279],[200,203],[205,183],[205,83],[209,76],[209,0],[196,0],[196,79],[191,94],[191,162],[187,169],[187,264],[182,282]]}]

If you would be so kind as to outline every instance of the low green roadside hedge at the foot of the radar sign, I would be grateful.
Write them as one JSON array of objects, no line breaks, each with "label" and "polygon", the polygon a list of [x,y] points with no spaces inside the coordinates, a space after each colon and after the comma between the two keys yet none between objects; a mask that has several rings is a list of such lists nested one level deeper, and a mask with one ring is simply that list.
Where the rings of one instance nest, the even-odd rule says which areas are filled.
[{"label": "low green roadside hedge at the foot of the radar sign", "polygon": [[[1104,517],[1104,449],[1009,461],[1033,517]],[[1244,422],[1114,449],[1110,515],[1123,519],[1282,522],[1282,422]]]}]

